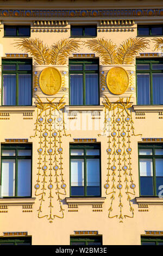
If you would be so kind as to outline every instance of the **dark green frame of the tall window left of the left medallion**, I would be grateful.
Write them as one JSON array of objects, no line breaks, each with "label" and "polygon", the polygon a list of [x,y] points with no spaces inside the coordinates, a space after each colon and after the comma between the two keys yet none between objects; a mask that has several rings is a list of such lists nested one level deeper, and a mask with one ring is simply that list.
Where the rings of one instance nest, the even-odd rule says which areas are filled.
[{"label": "dark green frame of the tall window left of the left medallion", "polygon": [[[3,65],[16,65],[16,70],[3,70]],[[31,70],[18,70],[18,65],[27,64],[31,65]],[[2,59],[2,95],[1,102],[2,106],[32,106],[32,96],[33,96],[33,65],[32,59]],[[14,74],[16,75],[16,104],[15,105],[3,105],[3,75]],[[31,103],[30,105],[18,105],[18,75],[20,74],[30,74],[31,75]]]}]

